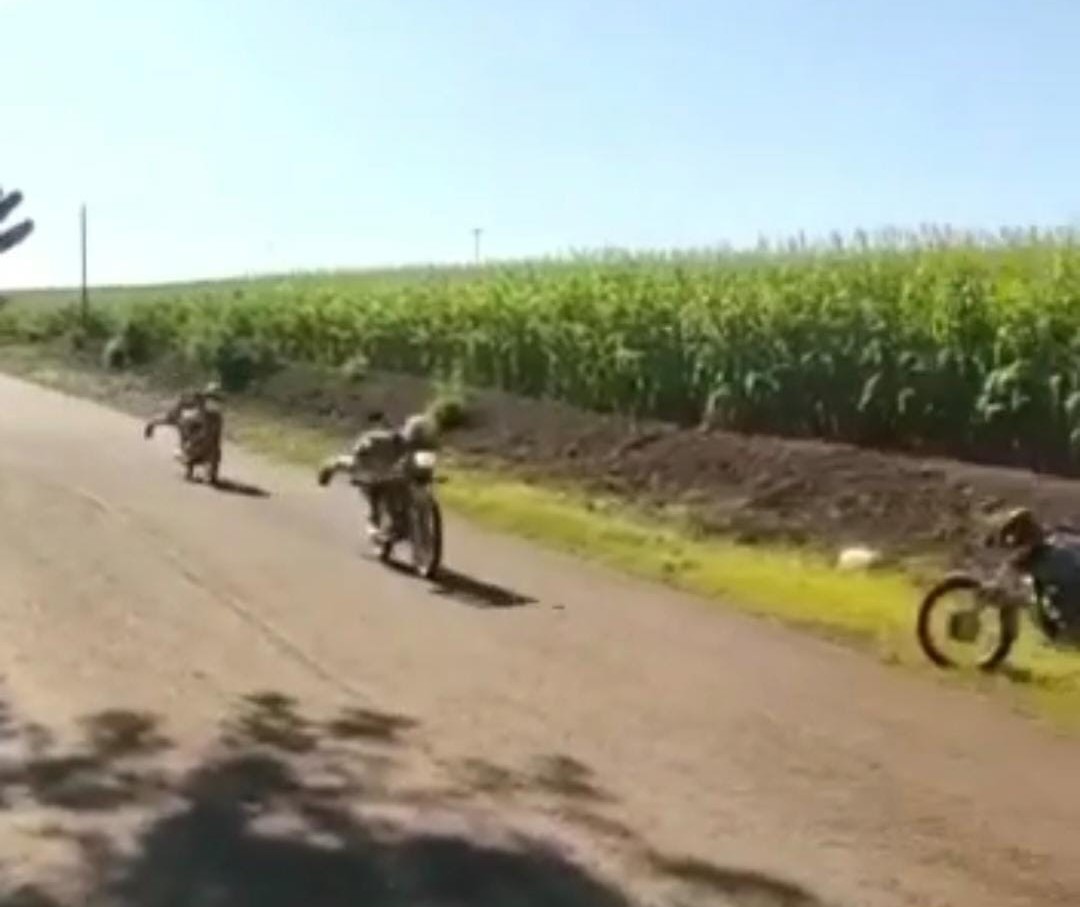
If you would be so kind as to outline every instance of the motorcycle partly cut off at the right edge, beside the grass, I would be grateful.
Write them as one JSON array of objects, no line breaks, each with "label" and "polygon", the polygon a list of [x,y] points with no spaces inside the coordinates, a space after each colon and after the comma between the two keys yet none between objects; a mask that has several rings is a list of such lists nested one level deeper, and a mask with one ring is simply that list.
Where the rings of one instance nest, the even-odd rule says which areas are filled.
[{"label": "motorcycle partly cut off at the right edge, beside the grass", "polygon": [[[1076,534],[1071,527],[1059,531]],[[1017,582],[1009,582],[1012,577]],[[1018,586],[1018,587],[1017,587]],[[1055,648],[1080,652],[1080,626],[1074,626],[1051,601],[1048,591],[1032,577],[1015,574],[1005,567],[994,577],[958,571],[942,579],[922,599],[916,635],[923,653],[939,667],[960,666],[946,644],[976,647],[985,630],[990,641],[980,649],[970,665],[980,671],[997,671],[1009,658],[1026,613],[1047,642]],[[959,603],[961,596],[967,600]],[[955,605],[959,608],[953,610]],[[944,615],[944,626],[939,617]]]}]

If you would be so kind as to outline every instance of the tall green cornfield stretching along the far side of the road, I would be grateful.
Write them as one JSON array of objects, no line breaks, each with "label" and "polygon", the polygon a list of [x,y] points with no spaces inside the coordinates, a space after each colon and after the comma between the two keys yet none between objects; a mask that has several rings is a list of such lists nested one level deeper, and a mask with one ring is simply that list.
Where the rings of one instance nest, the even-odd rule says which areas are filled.
[{"label": "tall green cornfield stretching along the far side of the road", "polygon": [[[297,275],[95,299],[139,361],[373,367],[746,432],[1080,459],[1080,243],[923,231],[744,254]],[[0,338],[72,330],[16,300]],[[76,329],[86,329],[85,326]],[[137,348],[137,349],[136,349]]]}]

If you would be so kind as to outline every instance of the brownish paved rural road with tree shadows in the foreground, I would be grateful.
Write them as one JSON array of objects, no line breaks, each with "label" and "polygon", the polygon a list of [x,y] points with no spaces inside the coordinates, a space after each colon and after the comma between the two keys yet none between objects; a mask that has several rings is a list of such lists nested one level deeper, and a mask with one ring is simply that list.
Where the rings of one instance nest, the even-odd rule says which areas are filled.
[{"label": "brownish paved rural road with tree shadows in the foreground", "polygon": [[1080,904],[1076,743],[457,522],[430,586],[172,441],[0,379],[0,903]]}]

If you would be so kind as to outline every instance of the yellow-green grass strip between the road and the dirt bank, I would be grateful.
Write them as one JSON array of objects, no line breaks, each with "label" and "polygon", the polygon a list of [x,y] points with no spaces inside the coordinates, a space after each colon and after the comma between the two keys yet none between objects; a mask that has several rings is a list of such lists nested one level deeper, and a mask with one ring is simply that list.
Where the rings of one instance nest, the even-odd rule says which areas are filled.
[{"label": "yellow-green grass strip between the road and the dirt bank", "polygon": [[[0,349],[0,368],[106,402],[146,387],[135,376],[87,375],[11,348]],[[229,434],[251,450],[301,466],[313,466],[342,442],[333,432],[245,402],[230,407]],[[1080,730],[1080,658],[1040,645],[1029,631],[1005,673],[984,677],[931,669],[914,639],[922,590],[902,572],[841,572],[801,551],[702,539],[675,519],[572,487],[526,483],[498,468],[450,458],[446,472],[442,500],[480,525],[854,645],[888,663],[997,693],[1057,727]]]}]

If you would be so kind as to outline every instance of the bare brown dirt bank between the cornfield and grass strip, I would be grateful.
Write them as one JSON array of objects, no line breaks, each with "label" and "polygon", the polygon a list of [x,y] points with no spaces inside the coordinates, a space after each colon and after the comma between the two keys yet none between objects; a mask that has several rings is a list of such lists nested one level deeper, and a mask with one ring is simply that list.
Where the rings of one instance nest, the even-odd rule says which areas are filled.
[{"label": "bare brown dirt bank between the cornfield and grass strip", "polygon": [[[430,385],[378,376],[359,384],[288,369],[257,396],[342,430],[373,408],[422,408]],[[848,445],[678,429],[549,401],[472,392],[451,444],[536,477],[674,505],[706,532],[833,551],[867,543],[896,556],[970,556],[988,513],[1025,504],[1055,522],[1080,515],[1080,482]]]}]

